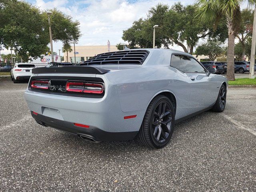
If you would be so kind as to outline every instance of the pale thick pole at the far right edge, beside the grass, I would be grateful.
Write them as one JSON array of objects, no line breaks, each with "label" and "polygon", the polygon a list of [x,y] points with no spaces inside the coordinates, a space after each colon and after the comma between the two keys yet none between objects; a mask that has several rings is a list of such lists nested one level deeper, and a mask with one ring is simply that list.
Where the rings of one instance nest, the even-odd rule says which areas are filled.
[{"label": "pale thick pole at the far right edge, beside the grass", "polygon": [[256,49],[256,6],[254,6],[253,29],[252,29],[252,49],[250,59],[250,74],[249,78],[254,79],[254,64],[255,64],[255,49]]}]

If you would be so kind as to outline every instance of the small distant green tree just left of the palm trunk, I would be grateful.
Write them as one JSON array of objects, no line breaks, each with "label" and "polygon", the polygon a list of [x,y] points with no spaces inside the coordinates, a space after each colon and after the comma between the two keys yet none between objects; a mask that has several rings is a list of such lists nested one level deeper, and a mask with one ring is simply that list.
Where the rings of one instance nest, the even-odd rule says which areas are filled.
[{"label": "small distant green tree just left of the palm trunk", "polygon": [[220,46],[221,42],[216,40],[208,40],[208,42],[199,45],[196,48],[196,55],[206,55],[211,61],[214,61],[223,52],[223,48]]}]

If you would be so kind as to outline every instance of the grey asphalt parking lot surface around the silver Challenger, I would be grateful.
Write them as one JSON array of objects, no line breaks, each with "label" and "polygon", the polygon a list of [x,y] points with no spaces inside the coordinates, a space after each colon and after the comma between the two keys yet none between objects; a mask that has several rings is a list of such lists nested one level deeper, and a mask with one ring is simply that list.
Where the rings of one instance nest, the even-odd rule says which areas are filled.
[{"label": "grey asphalt parking lot surface around the silver Challenger", "polygon": [[256,191],[256,89],[180,122],[160,150],[94,144],[30,116],[27,82],[0,80],[0,191]]}]

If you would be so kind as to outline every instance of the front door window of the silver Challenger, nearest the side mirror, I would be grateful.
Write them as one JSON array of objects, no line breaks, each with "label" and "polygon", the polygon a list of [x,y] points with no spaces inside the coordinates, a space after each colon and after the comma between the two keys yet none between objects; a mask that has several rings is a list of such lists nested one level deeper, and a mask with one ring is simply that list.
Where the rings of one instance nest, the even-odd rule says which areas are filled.
[{"label": "front door window of the silver Challenger, nearest the side mirror", "polygon": [[204,68],[193,58],[185,55],[180,55],[180,60],[186,73],[205,73]]}]

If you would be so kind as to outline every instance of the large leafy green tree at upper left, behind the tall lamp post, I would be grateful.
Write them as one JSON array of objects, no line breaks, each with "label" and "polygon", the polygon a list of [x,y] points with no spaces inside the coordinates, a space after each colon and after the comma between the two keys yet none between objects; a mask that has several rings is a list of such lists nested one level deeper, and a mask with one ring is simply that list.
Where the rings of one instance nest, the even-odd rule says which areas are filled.
[{"label": "large leafy green tree at upper left, behind the tall lamp post", "polygon": [[[70,42],[80,36],[79,22],[72,21],[58,10],[52,10],[52,34],[54,41]],[[0,44],[28,60],[37,58],[48,50],[49,24],[46,12],[18,0],[0,2]]]}]

